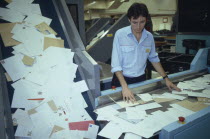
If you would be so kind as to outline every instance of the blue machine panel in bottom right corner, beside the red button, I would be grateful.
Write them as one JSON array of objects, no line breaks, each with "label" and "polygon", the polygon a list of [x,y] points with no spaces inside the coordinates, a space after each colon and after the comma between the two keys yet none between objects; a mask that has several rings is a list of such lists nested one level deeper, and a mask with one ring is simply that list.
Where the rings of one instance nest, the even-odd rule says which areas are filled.
[{"label": "blue machine panel in bottom right corner, beside the red button", "polygon": [[165,126],[160,139],[210,139],[210,107],[194,113],[185,119],[185,124],[179,122]]}]

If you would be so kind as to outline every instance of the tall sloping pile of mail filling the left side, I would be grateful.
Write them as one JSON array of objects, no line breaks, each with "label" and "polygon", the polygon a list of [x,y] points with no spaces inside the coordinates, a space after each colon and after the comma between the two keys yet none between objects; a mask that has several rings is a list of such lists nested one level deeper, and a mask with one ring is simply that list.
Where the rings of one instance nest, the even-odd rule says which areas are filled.
[{"label": "tall sloping pile of mail filling the left side", "polygon": [[[13,46],[14,55],[0,63],[14,82],[15,136],[96,138],[98,126],[85,110],[82,96],[88,87],[84,80],[74,81],[78,68],[74,52],[64,47],[64,40],[50,27],[52,19],[42,16],[39,4],[32,2],[13,0],[0,8],[1,19],[12,22],[0,27],[6,27],[1,36],[5,46]],[[10,35],[5,37],[5,32]]]}]

